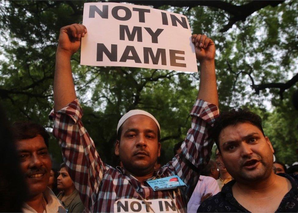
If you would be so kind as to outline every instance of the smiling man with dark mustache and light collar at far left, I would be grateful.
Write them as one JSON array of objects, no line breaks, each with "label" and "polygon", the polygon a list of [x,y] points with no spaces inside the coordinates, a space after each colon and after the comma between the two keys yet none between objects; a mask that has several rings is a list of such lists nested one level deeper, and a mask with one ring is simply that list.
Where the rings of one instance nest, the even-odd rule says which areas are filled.
[{"label": "smiling man with dark mustache and light collar at far left", "polygon": [[38,124],[19,121],[13,124],[13,136],[29,192],[22,211],[66,212],[47,187],[52,168],[48,152],[49,134]]}]

